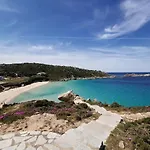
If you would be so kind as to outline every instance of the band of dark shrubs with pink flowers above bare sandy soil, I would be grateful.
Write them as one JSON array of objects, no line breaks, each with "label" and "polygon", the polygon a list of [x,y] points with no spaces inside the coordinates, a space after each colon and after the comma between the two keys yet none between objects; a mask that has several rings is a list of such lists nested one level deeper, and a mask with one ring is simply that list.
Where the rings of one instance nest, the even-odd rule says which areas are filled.
[{"label": "band of dark shrubs with pink flowers above bare sandy soil", "polygon": [[24,103],[5,104],[0,109],[0,122],[10,124],[18,119],[24,119],[34,114],[55,114],[57,119],[76,122],[86,118],[97,119],[99,114],[86,104],[76,105],[74,102],[60,102],[38,100]]}]

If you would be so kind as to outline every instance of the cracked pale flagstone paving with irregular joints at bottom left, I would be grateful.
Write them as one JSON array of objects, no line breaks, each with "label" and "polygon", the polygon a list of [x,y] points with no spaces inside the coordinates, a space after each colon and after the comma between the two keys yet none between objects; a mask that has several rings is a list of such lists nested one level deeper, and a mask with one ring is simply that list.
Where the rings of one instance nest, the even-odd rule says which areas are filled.
[{"label": "cracked pale flagstone paving with irregular joints at bottom left", "polygon": [[0,135],[0,150],[55,150],[51,143],[59,137],[60,134],[46,131],[8,133]]}]

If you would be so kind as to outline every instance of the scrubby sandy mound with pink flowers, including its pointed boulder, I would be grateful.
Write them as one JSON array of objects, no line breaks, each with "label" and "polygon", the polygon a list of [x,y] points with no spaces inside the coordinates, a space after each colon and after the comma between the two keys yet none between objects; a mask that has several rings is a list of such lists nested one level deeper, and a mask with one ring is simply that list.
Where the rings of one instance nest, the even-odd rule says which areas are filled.
[{"label": "scrubby sandy mound with pink flowers, including its pointed boulder", "polygon": [[23,103],[4,104],[0,109],[0,133],[41,130],[59,134],[82,123],[89,123],[101,114],[87,104],[75,104],[83,100],[68,91],[58,97],[59,103],[33,100]]}]

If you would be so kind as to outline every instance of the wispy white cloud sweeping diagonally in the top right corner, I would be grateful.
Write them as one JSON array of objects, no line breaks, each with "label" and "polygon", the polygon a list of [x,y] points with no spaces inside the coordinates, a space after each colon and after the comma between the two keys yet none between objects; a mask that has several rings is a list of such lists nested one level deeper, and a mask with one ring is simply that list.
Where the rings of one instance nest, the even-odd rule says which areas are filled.
[{"label": "wispy white cloud sweeping diagonally in the top right corner", "polygon": [[100,39],[111,39],[134,32],[150,21],[150,0],[124,0],[120,4],[123,20],[107,27]]}]

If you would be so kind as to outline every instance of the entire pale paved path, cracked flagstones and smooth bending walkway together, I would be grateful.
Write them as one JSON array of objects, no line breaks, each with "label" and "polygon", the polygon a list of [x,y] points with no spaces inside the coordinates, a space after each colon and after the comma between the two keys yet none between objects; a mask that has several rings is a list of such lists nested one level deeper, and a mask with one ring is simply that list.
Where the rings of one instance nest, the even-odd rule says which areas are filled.
[{"label": "entire pale paved path, cracked flagstones and smooth bending walkway together", "polygon": [[[75,103],[84,102],[76,99]],[[99,106],[87,105],[102,114],[99,119],[70,129],[63,135],[40,131],[0,135],[0,150],[98,150],[121,117]]]}]

